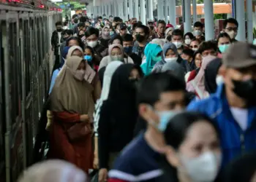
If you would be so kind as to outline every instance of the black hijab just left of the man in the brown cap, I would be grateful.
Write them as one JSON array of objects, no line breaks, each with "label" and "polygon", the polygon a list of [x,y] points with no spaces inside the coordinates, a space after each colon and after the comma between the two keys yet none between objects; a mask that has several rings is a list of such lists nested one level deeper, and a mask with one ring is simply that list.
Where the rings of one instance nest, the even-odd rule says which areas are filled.
[{"label": "black hijab just left of the man in the brown cap", "polygon": [[205,70],[205,87],[206,91],[211,94],[215,93],[217,90],[216,76],[219,71],[219,67],[222,65],[222,60],[216,58],[208,63]]}]

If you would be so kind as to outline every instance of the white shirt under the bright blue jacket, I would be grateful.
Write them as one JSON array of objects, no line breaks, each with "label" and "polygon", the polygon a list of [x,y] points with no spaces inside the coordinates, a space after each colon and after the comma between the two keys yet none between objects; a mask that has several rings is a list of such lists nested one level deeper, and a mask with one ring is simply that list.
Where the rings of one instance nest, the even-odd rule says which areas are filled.
[{"label": "white shirt under the bright blue jacket", "polygon": [[230,107],[230,111],[242,130],[247,129],[248,109]]}]

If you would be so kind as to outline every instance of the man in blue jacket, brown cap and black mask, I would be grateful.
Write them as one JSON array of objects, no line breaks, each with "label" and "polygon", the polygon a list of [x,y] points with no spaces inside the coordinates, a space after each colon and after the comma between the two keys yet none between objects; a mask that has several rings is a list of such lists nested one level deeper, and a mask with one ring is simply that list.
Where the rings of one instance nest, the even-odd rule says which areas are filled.
[{"label": "man in blue jacket, brown cap and black mask", "polygon": [[[245,42],[230,45],[222,58],[219,75],[223,84],[206,100],[189,104],[188,110],[214,118],[221,130],[223,165],[249,151],[256,143],[256,47]],[[227,142],[228,141],[228,142]]]}]

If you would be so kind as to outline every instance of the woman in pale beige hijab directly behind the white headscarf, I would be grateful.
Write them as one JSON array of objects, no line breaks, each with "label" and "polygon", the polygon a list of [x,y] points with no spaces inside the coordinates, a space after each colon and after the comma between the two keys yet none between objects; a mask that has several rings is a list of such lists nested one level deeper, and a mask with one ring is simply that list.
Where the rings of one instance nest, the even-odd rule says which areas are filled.
[{"label": "woman in pale beige hijab directly behind the white headscarf", "polygon": [[121,44],[111,44],[109,46],[108,55],[102,58],[102,61],[99,63],[99,69],[108,66],[113,60],[119,60],[123,63],[133,63],[132,58],[124,55],[124,49]]}]

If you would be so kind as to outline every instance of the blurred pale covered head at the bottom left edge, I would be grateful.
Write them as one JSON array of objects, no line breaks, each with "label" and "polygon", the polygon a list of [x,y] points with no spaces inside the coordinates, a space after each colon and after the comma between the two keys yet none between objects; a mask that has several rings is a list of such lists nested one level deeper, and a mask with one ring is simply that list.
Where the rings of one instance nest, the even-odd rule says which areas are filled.
[{"label": "blurred pale covered head at the bottom left edge", "polygon": [[83,170],[62,160],[47,160],[32,165],[18,178],[18,182],[86,182]]}]

